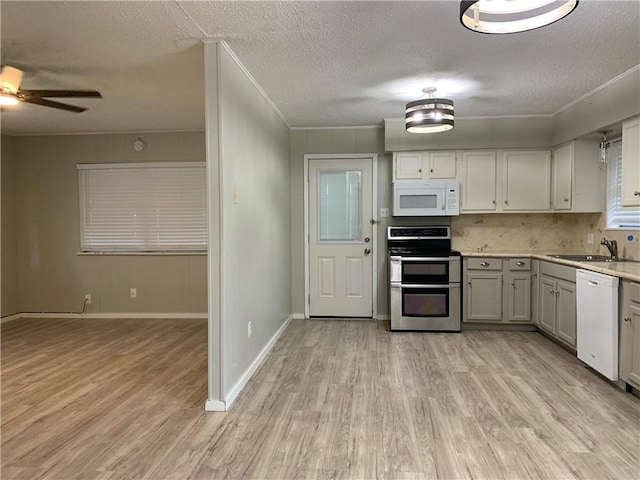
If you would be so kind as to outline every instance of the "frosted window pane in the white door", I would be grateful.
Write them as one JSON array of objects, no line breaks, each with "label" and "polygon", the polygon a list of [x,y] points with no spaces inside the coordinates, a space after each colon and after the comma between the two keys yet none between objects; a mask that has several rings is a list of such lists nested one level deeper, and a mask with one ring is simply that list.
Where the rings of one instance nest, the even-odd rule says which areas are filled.
[{"label": "frosted window pane in the white door", "polygon": [[360,241],[362,172],[318,172],[319,241]]}]

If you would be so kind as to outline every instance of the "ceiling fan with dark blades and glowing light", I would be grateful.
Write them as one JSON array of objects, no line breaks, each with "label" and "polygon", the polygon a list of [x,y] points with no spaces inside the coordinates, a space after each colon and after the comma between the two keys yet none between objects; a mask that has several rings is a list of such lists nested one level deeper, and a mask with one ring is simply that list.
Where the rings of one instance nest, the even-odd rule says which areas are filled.
[{"label": "ceiling fan with dark blades and glowing light", "polygon": [[86,108],[55,102],[48,98],[102,98],[95,90],[22,90],[20,83],[24,72],[5,65],[0,72],[0,106],[17,105],[18,102],[32,103],[43,107],[58,108],[80,113]]}]

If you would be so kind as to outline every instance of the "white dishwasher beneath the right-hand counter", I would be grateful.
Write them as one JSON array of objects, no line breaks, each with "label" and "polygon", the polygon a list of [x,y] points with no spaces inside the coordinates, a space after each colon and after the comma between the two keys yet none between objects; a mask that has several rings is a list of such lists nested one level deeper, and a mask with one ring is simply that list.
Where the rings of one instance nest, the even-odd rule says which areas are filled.
[{"label": "white dishwasher beneath the right-hand counter", "polygon": [[618,379],[618,277],[576,272],[578,358],[609,380]]}]

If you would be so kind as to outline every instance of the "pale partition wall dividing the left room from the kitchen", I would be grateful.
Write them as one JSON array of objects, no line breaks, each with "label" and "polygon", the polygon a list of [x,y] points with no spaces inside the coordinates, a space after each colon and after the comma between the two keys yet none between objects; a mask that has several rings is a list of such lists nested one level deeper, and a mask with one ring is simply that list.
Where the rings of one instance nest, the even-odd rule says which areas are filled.
[{"label": "pale partition wall dividing the left room from the kitchen", "polygon": [[209,342],[209,365],[215,370],[219,358],[222,368],[210,399],[219,391],[217,399],[230,401],[291,316],[289,128],[226,46],[207,44],[205,55],[209,174],[218,185],[210,205],[220,217],[220,243],[212,245],[219,323],[209,320],[210,338],[219,329],[220,341]]}]

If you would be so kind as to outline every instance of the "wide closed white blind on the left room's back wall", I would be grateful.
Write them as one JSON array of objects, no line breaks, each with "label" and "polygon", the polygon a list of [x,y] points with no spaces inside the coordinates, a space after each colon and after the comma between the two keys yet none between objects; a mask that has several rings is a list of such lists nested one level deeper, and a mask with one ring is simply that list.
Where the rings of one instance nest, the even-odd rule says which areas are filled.
[{"label": "wide closed white blind on the left room's back wall", "polygon": [[78,165],[85,252],[207,249],[205,164]]}]

